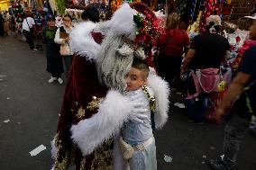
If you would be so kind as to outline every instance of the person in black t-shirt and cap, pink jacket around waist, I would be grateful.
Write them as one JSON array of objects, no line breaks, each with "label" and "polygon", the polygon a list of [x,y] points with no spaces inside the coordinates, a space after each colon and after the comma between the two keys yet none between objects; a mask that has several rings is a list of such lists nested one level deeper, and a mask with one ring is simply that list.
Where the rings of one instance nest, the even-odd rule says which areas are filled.
[{"label": "person in black t-shirt and cap, pink jacket around waist", "polygon": [[219,35],[219,31],[221,18],[218,15],[209,16],[206,32],[194,38],[180,68],[181,76],[187,75],[186,118],[189,122],[203,123],[208,94],[216,88],[220,66],[230,49],[228,40]]}]

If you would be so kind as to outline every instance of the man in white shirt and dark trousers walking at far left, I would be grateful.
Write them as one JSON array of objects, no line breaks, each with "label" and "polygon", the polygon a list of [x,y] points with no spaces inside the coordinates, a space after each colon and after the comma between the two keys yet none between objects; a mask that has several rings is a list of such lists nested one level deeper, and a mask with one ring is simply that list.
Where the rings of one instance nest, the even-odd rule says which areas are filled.
[{"label": "man in white shirt and dark trousers walking at far left", "polygon": [[31,16],[31,14],[27,14],[26,18],[23,20],[23,33],[24,33],[24,36],[26,37],[27,43],[30,46],[30,49],[37,50],[34,47],[34,43],[32,40],[32,30],[34,32],[36,32],[35,22]]}]

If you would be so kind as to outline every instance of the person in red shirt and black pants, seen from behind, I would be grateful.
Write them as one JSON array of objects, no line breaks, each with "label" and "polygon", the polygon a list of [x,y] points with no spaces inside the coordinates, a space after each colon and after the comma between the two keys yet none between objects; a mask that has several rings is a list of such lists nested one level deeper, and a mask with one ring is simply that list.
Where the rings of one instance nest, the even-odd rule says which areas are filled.
[{"label": "person in red shirt and black pants, seen from behind", "polygon": [[158,72],[160,76],[166,78],[169,85],[172,85],[174,78],[179,80],[182,55],[184,49],[188,48],[190,44],[187,31],[178,28],[179,22],[179,14],[170,13],[165,33],[160,36],[159,40]]}]

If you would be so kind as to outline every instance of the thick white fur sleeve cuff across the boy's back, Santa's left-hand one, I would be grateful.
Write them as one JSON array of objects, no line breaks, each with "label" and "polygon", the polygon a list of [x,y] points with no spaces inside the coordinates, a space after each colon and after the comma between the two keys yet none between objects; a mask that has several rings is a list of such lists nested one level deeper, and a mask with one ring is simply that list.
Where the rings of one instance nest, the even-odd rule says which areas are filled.
[{"label": "thick white fur sleeve cuff across the boy's back, Santa's left-hand one", "polygon": [[105,139],[119,132],[123,121],[128,119],[132,105],[117,91],[110,90],[99,104],[98,112],[90,119],[71,127],[71,139],[78,144],[84,156],[93,152]]}]

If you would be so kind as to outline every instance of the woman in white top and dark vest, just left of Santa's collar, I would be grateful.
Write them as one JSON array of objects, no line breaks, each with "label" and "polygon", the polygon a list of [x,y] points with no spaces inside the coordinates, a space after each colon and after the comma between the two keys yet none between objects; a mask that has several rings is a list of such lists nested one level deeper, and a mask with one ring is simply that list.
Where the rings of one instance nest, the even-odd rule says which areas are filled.
[{"label": "woman in white top and dark vest, just left of Santa's collar", "polygon": [[[54,41],[60,45],[60,55],[63,58],[65,71],[68,76],[69,68],[72,64],[72,58],[73,58],[73,51],[69,46],[69,33],[72,31],[73,25],[72,25],[72,18],[69,14],[66,14],[63,17],[63,23],[64,23],[63,26],[59,27],[59,29],[56,31]],[[65,50],[61,50],[61,48],[64,48]]]}]

